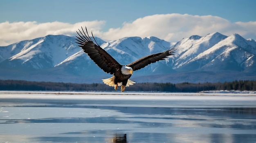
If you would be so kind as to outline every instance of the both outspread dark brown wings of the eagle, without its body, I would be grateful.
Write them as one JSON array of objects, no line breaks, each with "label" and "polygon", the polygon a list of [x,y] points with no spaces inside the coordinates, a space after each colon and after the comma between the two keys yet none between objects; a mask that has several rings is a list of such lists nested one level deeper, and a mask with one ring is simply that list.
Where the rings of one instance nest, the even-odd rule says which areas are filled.
[{"label": "both outspread dark brown wings of the eagle, without its body", "polygon": [[[76,40],[79,44],[79,47],[83,48],[83,51],[90,56],[90,58],[96,63],[101,69],[103,69],[104,72],[113,74],[115,72],[115,69],[117,67],[121,67],[121,65],[112,57],[108,52],[103,50],[95,38],[93,37],[95,43],[92,41],[92,39],[88,35],[87,28],[85,27],[86,33],[84,32],[83,28],[82,31],[79,30],[76,36]],[[160,52],[157,54],[151,54],[148,56],[144,56],[143,58],[138,59],[137,61],[134,61],[130,64],[128,64],[128,67],[131,67],[133,71],[139,70],[143,67],[146,67],[147,65],[151,63],[155,63],[157,61],[164,60],[167,56],[171,56],[175,53],[177,50],[177,47],[171,47],[169,50],[166,50],[165,52]]]}]

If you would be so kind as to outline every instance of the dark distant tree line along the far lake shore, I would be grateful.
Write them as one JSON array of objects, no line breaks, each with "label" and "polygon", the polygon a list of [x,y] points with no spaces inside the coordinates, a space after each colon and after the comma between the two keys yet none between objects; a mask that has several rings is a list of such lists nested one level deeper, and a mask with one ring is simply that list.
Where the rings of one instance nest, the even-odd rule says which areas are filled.
[{"label": "dark distant tree line along the far lake shore", "polygon": [[[120,88],[120,87],[119,87]],[[0,80],[0,90],[16,91],[113,91],[103,83],[78,84],[63,82],[34,82],[25,80]],[[239,80],[217,83],[136,83],[126,91],[159,91],[159,92],[198,92],[208,90],[247,90],[256,91],[256,80]]]}]

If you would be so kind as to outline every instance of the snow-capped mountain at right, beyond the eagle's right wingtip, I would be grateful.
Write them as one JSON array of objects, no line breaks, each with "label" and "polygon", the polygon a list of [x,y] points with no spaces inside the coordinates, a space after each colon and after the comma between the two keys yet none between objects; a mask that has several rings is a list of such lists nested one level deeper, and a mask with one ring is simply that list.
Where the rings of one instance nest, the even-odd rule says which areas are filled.
[{"label": "snow-capped mountain at right, beyond the eagle's right wingtip", "polygon": [[[189,45],[186,41],[188,40],[183,39],[178,44],[180,47],[186,47]],[[174,68],[242,72],[251,67],[255,61],[255,41],[248,41],[238,34],[227,37],[217,32],[194,39],[189,43],[191,46],[180,56],[178,55],[175,63],[177,67]]]}]

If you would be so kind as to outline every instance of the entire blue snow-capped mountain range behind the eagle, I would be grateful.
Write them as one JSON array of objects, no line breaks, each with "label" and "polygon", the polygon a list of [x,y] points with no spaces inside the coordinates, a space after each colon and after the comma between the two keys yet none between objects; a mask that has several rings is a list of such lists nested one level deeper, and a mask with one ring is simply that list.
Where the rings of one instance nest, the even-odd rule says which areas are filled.
[{"label": "entire blue snow-capped mountain range behind the eagle", "polygon": [[[256,41],[219,32],[193,35],[176,43],[157,37],[125,37],[97,43],[120,64],[177,46],[174,56],[135,71],[135,82],[225,82],[256,80]],[[109,78],[74,37],[47,35],[0,47],[0,79],[102,83]]]}]

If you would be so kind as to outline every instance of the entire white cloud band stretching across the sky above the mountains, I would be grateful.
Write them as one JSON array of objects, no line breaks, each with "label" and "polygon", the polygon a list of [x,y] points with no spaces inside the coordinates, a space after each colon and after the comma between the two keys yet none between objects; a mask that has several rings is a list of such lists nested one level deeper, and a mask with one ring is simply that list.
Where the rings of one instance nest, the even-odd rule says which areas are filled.
[{"label": "entire white cloud band stretching across the sky above the mountains", "polygon": [[138,18],[133,22],[124,22],[119,28],[110,28],[103,32],[105,21],[79,22],[75,24],[63,22],[3,22],[0,23],[0,45],[8,45],[25,39],[34,39],[46,35],[74,35],[81,26],[93,30],[94,36],[103,40],[117,40],[123,37],[155,36],[170,42],[180,41],[191,35],[204,36],[208,33],[220,32],[224,35],[238,33],[246,39],[256,39],[256,22],[231,23],[218,16],[162,14]]}]

